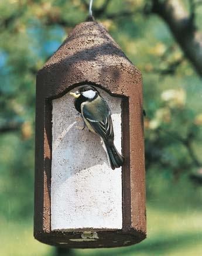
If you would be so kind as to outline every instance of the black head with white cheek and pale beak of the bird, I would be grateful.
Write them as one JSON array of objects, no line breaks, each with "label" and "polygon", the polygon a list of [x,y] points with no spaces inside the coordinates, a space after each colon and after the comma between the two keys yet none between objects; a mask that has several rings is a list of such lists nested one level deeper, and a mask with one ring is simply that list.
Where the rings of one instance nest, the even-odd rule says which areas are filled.
[{"label": "black head with white cheek and pale beak of the bird", "polygon": [[70,95],[74,96],[74,98],[83,98],[85,100],[91,101],[98,95],[97,89],[93,86],[81,86],[74,93],[70,93]]}]

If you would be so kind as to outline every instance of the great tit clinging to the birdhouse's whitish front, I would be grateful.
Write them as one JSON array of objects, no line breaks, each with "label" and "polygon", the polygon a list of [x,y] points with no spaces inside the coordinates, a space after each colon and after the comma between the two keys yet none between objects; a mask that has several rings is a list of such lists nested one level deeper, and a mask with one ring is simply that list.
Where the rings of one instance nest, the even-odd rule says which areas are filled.
[{"label": "great tit clinging to the birdhouse's whitish front", "polygon": [[75,93],[74,106],[81,113],[88,129],[98,134],[105,144],[109,165],[114,170],[124,163],[123,156],[114,145],[114,130],[108,104],[93,86],[82,86]]}]

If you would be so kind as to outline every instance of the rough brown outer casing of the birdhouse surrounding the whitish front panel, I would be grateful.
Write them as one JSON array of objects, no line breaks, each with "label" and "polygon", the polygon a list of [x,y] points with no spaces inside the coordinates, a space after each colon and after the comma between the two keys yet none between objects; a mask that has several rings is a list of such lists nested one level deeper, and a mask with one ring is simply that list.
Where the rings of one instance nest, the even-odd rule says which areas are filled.
[{"label": "rough brown outer casing of the birdhouse surrounding the whitish front panel", "polygon": [[[104,44],[94,47],[95,42],[92,41],[89,50],[87,40],[92,37],[97,43],[100,39]],[[76,53],[72,55],[69,49]],[[89,59],[99,54],[101,58],[92,65]],[[102,60],[106,54],[111,54],[107,66]],[[97,72],[99,70],[101,75]],[[99,239],[95,241],[75,242],[70,239],[81,238],[84,230],[60,232],[51,231],[50,227],[52,100],[87,83],[122,98],[122,149],[125,156],[122,167],[123,225],[122,230],[92,230],[98,233]],[[141,73],[100,24],[85,22],[77,25],[37,74],[34,227],[37,240],[60,247],[95,248],[131,245],[146,237],[142,113]]]}]

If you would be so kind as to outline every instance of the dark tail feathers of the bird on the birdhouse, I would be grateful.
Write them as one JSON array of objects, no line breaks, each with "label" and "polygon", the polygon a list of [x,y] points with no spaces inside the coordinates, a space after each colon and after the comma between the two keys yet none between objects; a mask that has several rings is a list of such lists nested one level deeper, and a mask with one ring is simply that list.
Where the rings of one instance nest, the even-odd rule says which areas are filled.
[{"label": "dark tail feathers of the bird on the birdhouse", "polygon": [[123,156],[117,151],[115,148],[115,145],[108,145],[105,144],[105,147],[107,149],[107,156],[109,165],[111,166],[111,169],[119,168],[124,164],[124,158]]}]

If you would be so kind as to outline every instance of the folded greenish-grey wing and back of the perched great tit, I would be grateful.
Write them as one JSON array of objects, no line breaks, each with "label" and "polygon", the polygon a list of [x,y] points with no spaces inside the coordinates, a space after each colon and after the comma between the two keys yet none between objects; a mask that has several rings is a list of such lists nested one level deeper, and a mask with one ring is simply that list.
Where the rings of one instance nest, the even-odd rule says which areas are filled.
[{"label": "folded greenish-grey wing and back of the perched great tit", "polygon": [[114,131],[111,120],[111,115],[107,103],[104,101],[100,107],[100,104],[96,104],[94,107],[91,104],[84,104],[82,108],[83,117],[94,128],[95,132],[101,136],[104,141],[114,140]]}]

